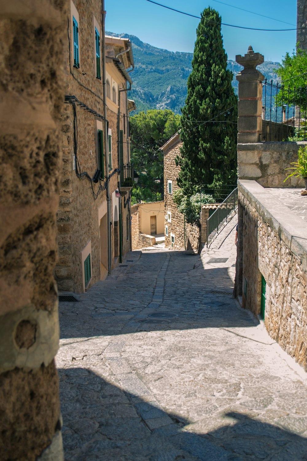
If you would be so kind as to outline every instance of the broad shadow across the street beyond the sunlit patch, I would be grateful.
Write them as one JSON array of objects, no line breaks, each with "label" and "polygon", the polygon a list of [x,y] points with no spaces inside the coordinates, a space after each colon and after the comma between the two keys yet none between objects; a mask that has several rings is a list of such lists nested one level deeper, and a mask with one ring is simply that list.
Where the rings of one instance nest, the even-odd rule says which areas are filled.
[{"label": "broad shadow across the street beyond the sunlit patch", "polygon": [[[255,326],[255,319],[240,312],[232,300],[233,281],[227,267],[206,266],[203,272],[195,271],[192,269],[198,255],[173,251],[163,254],[168,253],[171,261],[174,253],[185,257],[174,258],[176,262],[163,277],[152,275],[152,266],[161,258],[161,253],[144,253],[137,264],[116,268],[105,281],[77,296],[80,302],[61,302],[61,338]],[[156,289],[163,286],[160,283],[163,281],[166,289],[162,299],[161,290]],[[211,293],[214,290],[229,295]],[[142,313],[146,307],[146,313]],[[156,317],[151,317],[151,313]],[[163,313],[162,318],[159,313]]]}]

